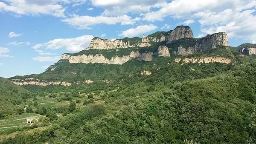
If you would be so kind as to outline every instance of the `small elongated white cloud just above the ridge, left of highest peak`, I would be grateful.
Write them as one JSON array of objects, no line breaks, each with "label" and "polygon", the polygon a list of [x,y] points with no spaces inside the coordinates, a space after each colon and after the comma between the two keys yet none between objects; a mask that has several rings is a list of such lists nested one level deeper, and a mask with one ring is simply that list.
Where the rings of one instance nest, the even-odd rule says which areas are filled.
[{"label": "small elongated white cloud just above the ridge, left of highest peak", "polygon": [[[144,34],[146,32],[150,32],[152,30],[157,29],[157,26],[154,25],[142,25],[142,26],[137,26],[136,28],[131,28],[131,29],[127,29],[125,31],[122,32],[122,36],[124,37],[134,37],[134,36],[138,36],[140,34]],[[121,36],[119,35],[119,36]]]}]

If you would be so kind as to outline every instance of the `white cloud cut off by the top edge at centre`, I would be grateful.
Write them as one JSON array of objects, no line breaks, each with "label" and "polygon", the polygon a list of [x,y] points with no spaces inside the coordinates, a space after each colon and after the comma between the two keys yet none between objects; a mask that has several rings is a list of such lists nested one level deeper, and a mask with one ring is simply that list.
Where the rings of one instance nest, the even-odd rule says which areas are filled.
[{"label": "white cloud cut off by the top edge at centre", "polygon": [[149,12],[151,8],[159,7],[164,0],[91,0],[92,4],[105,9],[104,15],[122,15]]}]

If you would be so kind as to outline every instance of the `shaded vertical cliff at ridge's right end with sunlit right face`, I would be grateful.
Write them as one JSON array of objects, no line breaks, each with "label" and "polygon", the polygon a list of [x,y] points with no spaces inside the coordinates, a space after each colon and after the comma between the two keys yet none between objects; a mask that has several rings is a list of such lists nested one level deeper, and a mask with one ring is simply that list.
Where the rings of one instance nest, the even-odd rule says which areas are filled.
[{"label": "shaded vertical cliff at ridge's right end with sunlit right face", "polygon": [[215,48],[215,46],[229,46],[228,37],[225,32],[219,32],[198,40],[193,46],[196,52],[203,52],[207,49]]}]

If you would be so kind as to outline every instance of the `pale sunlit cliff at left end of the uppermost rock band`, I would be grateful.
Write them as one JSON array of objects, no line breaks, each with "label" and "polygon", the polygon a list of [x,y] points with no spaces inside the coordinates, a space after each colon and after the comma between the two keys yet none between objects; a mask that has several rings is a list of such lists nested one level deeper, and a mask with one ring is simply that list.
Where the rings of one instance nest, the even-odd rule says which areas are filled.
[{"label": "pale sunlit cliff at left end of the uppermost rock band", "polygon": [[101,39],[99,37],[94,37],[87,49],[119,49],[119,48],[129,48],[135,45],[130,45],[129,41],[125,42],[123,40],[108,40]]}]

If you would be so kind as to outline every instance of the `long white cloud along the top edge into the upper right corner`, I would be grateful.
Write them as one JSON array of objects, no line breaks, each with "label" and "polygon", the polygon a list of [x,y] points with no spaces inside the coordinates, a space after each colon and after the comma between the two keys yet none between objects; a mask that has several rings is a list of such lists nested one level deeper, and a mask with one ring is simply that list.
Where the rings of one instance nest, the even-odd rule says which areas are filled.
[{"label": "long white cloud along the top edge into the upper right corner", "polygon": [[173,0],[153,12],[144,14],[143,20],[155,21],[163,20],[164,17],[172,16],[176,18],[189,17],[192,13],[202,12],[205,9],[213,12],[220,12],[223,9],[234,9],[242,11],[256,6],[255,0]]}]

